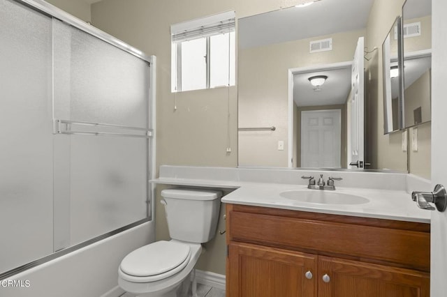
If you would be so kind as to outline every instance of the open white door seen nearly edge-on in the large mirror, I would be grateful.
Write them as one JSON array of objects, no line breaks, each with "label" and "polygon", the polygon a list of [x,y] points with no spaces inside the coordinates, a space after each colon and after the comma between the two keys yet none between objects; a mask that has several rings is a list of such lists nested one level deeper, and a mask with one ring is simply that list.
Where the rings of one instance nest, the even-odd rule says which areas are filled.
[{"label": "open white door seen nearly edge-on in the large mirror", "polygon": [[[365,41],[358,38],[356,53],[352,63],[352,105],[350,116],[351,139],[348,144],[348,168],[364,168],[365,98],[364,98],[364,61]],[[350,165],[356,164],[356,165]]]}]

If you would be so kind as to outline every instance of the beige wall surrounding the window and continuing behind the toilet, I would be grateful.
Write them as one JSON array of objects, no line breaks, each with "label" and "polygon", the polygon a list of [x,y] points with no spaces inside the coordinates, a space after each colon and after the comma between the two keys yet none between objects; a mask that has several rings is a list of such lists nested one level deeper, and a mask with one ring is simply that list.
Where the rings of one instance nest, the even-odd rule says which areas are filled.
[{"label": "beige wall surrounding the window and continuing behind the toilet", "polygon": [[[226,88],[171,93],[170,25],[228,10],[246,17],[279,5],[277,0],[104,0],[91,6],[94,26],[157,57],[157,168],[162,164],[237,166],[237,87],[230,88],[229,96]],[[226,153],[227,146],[232,153]],[[219,227],[223,225],[221,217]],[[167,238],[157,195],[156,239]],[[205,245],[197,267],[225,274],[225,246],[224,236],[217,235]]]}]

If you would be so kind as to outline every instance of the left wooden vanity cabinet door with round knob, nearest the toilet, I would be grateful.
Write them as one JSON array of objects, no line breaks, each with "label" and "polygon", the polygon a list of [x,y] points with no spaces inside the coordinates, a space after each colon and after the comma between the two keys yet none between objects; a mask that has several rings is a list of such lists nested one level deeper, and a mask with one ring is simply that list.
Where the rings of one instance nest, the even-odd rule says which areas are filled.
[{"label": "left wooden vanity cabinet door with round knob, nearest the toilet", "polygon": [[227,263],[227,296],[316,296],[315,255],[230,243]]}]

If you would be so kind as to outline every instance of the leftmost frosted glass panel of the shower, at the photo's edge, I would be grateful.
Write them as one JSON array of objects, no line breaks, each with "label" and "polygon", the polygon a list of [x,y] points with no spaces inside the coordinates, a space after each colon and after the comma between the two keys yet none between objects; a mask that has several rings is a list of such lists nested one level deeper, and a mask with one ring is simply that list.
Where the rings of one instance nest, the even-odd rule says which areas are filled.
[{"label": "leftmost frosted glass panel of the shower, at the photo's edge", "polygon": [[51,19],[0,0],[0,273],[52,253]]}]

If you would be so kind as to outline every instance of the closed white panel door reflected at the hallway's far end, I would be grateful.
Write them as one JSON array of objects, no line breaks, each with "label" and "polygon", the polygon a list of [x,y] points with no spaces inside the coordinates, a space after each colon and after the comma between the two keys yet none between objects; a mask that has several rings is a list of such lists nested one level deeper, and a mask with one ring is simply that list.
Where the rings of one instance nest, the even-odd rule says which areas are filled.
[{"label": "closed white panel door reflected at the hallway's far end", "polygon": [[340,109],[301,112],[301,167],[341,167],[341,139]]}]

